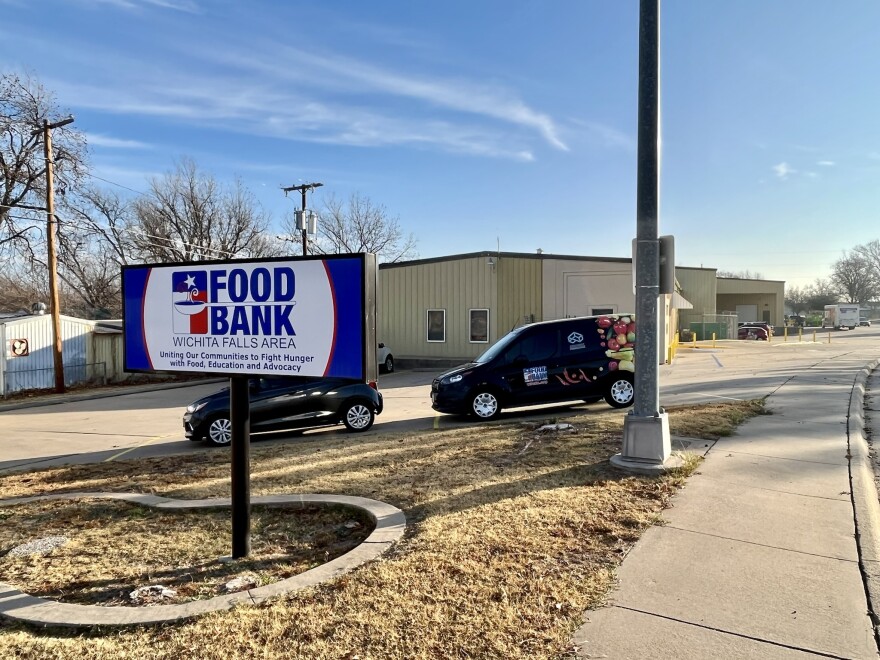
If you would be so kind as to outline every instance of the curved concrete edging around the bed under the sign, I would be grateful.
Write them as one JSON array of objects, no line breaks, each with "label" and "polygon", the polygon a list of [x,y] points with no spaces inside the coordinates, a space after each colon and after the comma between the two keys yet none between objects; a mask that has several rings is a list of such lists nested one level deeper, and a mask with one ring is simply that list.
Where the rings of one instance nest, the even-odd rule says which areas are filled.
[{"label": "curved concrete edging around the bed under the sign", "polygon": [[[124,500],[142,506],[157,509],[175,509],[178,511],[231,506],[229,498],[176,500],[139,493],[75,492],[0,500],[0,507],[23,504],[25,502],[74,498]],[[59,603],[46,598],[31,596],[9,584],[0,582],[0,616],[12,619],[13,621],[39,626],[91,628],[94,626],[133,626],[181,621],[201,614],[207,614],[208,612],[229,610],[238,604],[259,605],[268,598],[300,591],[326,582],[378,558],[390,549],[395,542],[400,540],[406,528],[406,516],[403,511],[385,502],[371,500],[366,497],[323,494],[266,495],[252,498],[251,504],[276,507],[296,507],[307,504],[342,504],[366,511],[367,515],[376,523],[376,528],[362,543],[344,555],[299,575],[294,575],[255,589],[177,605],[104,607],[101,605]]]}]

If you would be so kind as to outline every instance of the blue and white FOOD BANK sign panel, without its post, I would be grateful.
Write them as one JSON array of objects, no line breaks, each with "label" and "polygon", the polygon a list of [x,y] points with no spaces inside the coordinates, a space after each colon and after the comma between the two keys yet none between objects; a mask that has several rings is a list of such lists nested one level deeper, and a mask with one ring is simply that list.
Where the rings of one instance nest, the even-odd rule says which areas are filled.
[{"label": "blue and white FOOD BANK sign panel, without its post", "polygon": [[375,263],[125,266],[125,370],[374,378]]}]

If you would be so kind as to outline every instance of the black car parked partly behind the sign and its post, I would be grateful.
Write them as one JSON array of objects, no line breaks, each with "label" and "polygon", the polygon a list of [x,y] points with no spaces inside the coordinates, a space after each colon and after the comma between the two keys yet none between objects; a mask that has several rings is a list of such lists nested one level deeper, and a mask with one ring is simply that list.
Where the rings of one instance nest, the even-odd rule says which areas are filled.
[{"label": "black car parked partly behind the sign and its post", "polygon": [[[250,381],[250,428],[286,431],[345,424],[366,431],[382,412],[382,395],[366,383],[342,378],[254,378]],[[223,447],[232,441],[229,389],[191,403],[183,415],[186,437]]]}]

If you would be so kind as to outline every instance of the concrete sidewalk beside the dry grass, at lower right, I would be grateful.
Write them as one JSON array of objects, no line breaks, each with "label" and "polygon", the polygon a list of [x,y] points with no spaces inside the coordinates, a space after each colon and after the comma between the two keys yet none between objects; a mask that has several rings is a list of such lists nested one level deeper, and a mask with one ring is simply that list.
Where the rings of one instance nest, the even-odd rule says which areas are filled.
[{"label": "concrete sidewalk beside the dry grass, at lower right", "polygon": [[609,606],[586,613],[580,657],[878,657],[870,362],[854,352],[791,378],[773,414],[714,445],[624,560]]}]

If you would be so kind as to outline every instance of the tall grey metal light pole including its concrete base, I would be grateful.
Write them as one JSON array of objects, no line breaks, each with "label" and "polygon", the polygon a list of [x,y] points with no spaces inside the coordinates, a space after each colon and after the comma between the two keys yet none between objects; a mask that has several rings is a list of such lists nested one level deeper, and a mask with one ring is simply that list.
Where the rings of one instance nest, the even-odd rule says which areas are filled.
[{"label": "tall grey metal light pole including its concrete base", "polygon": [[660,408],[657,299],[660,295],[660,0],[639,11],[639,119],[636,200],[635,405],[624,419],[623,447],[611,463],[641,473],[673,462],[669,420]]}]

